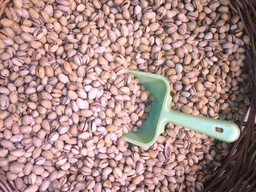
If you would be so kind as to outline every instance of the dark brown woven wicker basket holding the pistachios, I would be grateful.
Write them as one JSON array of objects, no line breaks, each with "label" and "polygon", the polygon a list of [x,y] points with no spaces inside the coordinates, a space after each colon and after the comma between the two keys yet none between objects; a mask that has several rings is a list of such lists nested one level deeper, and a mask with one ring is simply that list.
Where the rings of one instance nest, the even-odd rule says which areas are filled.
[{"label": "dark brown woven wicker basket holding the pistachios", "polygon": [[[0,0],[0,17],[10,0]],[[251,44],[246,45],[246,68],[249,80],[246,82],[250,93],[251,106],[241,124],[241,137],[233,144],[230,154],[225,158],[223,165],[213,173],[210,182],[206,183],[205,191],[255,191],[256,187],[256,1],[230,0],[230,14],[238,14],[245,23],[246,34]],[[8,182],[4,172],[0,170],[0,191],[12,192],[15,190],[13,182]]]}]

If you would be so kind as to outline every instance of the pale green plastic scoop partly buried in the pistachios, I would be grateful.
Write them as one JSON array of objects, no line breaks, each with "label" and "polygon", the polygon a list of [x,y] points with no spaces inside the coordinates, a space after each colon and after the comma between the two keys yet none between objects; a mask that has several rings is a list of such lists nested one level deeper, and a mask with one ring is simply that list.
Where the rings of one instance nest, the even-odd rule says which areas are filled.
[{"label": "pale green plastic scoop partly buried in the pistachios", "polygon": [[129,71],[138,77],[140,84],[144,85],[154,96],[151,112],[146,122],[137,132],[129,131],[124,134],[124,139],[140,147],[148,147],[157,141],[159,134],[165,131],[167,123],[175,123],[184,126],[210,137],[222,140],[223,142],[234,142],[238,139],[240,130],[235,123],[225,120],[203,118],[194,115],[187,115],[170,109],[169,82],[157,74],[146,72]]}]

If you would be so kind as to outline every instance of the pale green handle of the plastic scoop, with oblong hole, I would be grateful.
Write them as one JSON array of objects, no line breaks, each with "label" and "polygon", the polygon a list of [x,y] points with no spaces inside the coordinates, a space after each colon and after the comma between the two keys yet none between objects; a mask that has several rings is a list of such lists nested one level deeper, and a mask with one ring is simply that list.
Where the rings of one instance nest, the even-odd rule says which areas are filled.
[{"label": "pale green handle of the plastic scoop, with oblong hole", "polygon": [[223,142],[234,142],[240,135],[240,129],[231,121],[188,115],[173,110],[169,110],[167,121],[198,131]]}]

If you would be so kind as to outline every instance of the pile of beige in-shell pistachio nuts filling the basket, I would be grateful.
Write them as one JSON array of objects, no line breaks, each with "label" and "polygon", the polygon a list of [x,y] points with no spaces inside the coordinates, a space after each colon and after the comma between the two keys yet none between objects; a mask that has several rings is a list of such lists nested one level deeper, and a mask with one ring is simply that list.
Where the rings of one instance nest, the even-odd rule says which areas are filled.
[{"label": "pile of beige in-shell pistachio nuts filling the basket", "polygon": [[14,191],[203,191],[227,143],[168,123],[124,141],[170,82],[170,107],[241,122],[244,23],[228,0],[13,0],[0,20],[0,174]]}]

